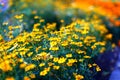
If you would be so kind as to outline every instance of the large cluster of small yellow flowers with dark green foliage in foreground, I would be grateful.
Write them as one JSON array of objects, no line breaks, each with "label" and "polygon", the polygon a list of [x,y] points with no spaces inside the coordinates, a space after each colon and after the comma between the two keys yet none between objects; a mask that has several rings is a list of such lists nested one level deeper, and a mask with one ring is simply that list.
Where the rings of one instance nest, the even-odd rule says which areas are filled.
[{"label": "large cluster of small yellow flowers with dark green foliage in foreground", "polygon": [[43,22],[35,23],[30,33],[10,37],[10,41],[0,36],[1,79],[88,80],[101,71],[93,58],[108,48],[110,37],[103,38],[107,29],[99,20],[77,20],[59,31],[55,23],[42,27]]}]

